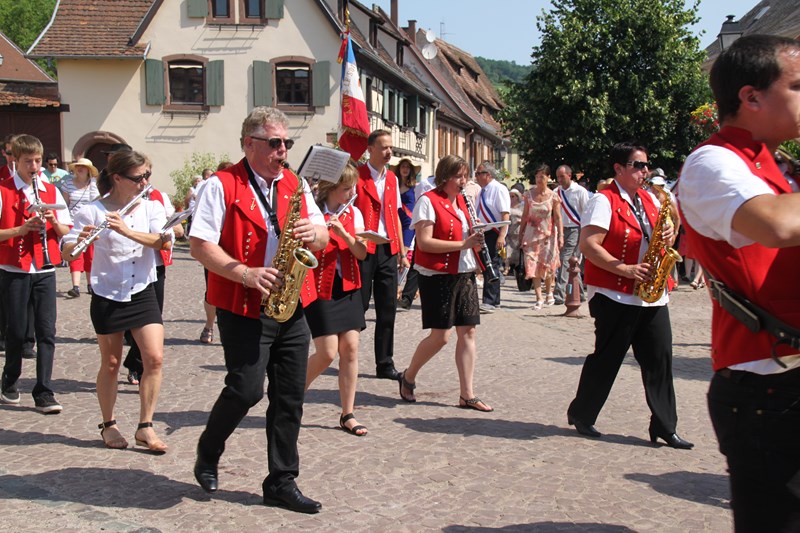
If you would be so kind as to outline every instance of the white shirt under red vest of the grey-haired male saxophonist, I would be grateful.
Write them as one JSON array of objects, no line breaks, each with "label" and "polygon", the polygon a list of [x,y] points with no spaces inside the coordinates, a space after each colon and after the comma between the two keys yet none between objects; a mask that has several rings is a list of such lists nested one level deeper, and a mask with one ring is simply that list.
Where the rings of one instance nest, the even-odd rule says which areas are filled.
[{"label": "white shirt under red vest of the grey-haired male saxophonist", "polygon": [[[272,186],[267,185],[266,180],[255,172],[253,172],[253,175],[255,176],[258,188],[264,193],[267,202],[273,204],[273,190],[278,182],[283,179],[283,172],[281,172],[280,176],[272,180]],[[322,211],[319,210],[319,206],[314,202],[314,196],[311,194],[308,182],[302,178],[298,179],[303,183],[303,192],[305,194],[306,207],[308,208],[308,218],[311,219],[312,224],[324,226],[325,217],[322,216]],[[253,185],[248,183],[247,186],[252,191],[253,196],[255,196],[258,210],[261,212],[261,216],[264,217],[264,222],[266,222],[269,238],[267,239],[267,251],[264,255],[264,265],[271,265],[272,258],[278,251],[278,239],[274,238],[275,232],[272,230],[272,222],[267,215],[266,209],[261,205],[261,200],[258,199]],[[225,191],[222,188],[222,182],[215,174],[208,178],[208,180],[206,180],[206,185],[200,189],[200,194],[195,203],[194,214],[192,215],[192,229],[189,232],[190,237],[219,243],[219,238],[222,235],[223,222],[225,222]]]}]

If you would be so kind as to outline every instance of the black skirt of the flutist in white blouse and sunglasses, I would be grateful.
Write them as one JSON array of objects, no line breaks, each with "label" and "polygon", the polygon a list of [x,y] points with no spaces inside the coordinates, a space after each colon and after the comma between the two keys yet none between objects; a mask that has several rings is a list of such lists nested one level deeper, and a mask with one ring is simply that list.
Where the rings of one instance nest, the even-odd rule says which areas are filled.
[{"label": "black skirt of the flutist in white blouse and sunglasses", "polygon": [[130,302],[117,302],[92,294],[89,314],[98,335],[121,333],[147,324],[163,324],[152,283],[143,291],[131,295]]}]

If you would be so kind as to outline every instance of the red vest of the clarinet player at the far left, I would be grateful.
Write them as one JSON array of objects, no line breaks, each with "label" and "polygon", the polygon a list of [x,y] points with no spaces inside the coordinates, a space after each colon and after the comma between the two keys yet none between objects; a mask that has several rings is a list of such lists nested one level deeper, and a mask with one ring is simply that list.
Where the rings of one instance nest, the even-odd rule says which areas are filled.
[{"label": "red vest of the clarinet player at the far left", "polygon": [[[40,181],[44,185],[44,191],[39,191],[42,203],[56,203],[56,188],[44,180]],[[21,226],[30,214],[25,210],[29,205],[25,193],[17,190],[13,179],[6,179],[0,182],[0,195],[3,199],[3,211],[0,212],[0,229],[10,229]],[[47,228],[47,251],[50,261],[60,261],[61,251],[58,248],[58,235],[50,222],[46,222]],[[37,268],[41,268],[44,262],[42,254],[42,239],[38,231],[29,231],[22,237],[14,237],[0,242],[0,264],[21,268],[29,271],[31,261],[34,261]]]}]

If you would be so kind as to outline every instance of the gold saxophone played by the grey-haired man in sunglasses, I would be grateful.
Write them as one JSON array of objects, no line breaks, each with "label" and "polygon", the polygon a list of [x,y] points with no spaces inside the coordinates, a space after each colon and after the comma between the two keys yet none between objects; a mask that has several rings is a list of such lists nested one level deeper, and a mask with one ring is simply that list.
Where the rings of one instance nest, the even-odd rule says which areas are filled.
[{"label": "gold saxophone played by the grey-haired man in sunglasses", "polygon": [[297,302],[300,301],[300,289],[308,270],[317,268],[319,264],[314,254],[303,248],[302,239],[294,237],[294,225],[300,219],[300,208],[303,205],[303,178],[297,179],[297,189],[289,198],[278,251],[272,258],[272,268],[283,274],[283,286],[261,298],[264,314],[278,322],[286,322],[292,317],[297,309]]}]

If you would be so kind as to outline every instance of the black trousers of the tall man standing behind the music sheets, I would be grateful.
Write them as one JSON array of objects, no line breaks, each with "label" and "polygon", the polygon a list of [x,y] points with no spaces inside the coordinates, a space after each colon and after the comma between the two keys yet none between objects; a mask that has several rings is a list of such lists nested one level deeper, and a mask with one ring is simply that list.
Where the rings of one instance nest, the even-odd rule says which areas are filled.
[{"label": "black trousers of the tall man standing behind the music sheets", "polygon": [[394,321],[397,315],[397,254],[390,244],[379,244],[359,263],[364,313],[375,295],[375,367],[394,367]]}]

